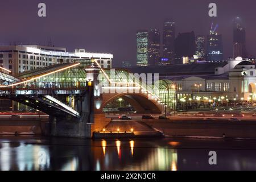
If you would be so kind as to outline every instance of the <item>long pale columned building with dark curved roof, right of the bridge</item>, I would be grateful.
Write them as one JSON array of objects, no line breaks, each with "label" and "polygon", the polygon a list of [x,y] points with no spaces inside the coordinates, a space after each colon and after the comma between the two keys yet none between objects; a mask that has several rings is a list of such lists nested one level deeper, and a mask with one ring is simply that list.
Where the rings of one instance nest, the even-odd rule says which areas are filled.
[{"label": "long pale columned building with dark curved roof, right of the bridge", "polygon": [[179,64],[164,67],[131,67],[133,73],[159,73],[174,82],[176,98],[256,101],[255,65],[242,57],[213,63]]}]

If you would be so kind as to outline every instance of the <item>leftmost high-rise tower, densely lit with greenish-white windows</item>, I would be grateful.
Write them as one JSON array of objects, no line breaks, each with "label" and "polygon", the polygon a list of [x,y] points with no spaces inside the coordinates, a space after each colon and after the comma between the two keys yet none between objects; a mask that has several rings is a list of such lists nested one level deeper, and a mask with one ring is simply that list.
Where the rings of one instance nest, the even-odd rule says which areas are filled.
[{"label": "leftmost high-rise tower, densely lit with greenish-white windows", "polygon": [[148,65],[148,32],[145,30],[137,31],[137,65]]}]

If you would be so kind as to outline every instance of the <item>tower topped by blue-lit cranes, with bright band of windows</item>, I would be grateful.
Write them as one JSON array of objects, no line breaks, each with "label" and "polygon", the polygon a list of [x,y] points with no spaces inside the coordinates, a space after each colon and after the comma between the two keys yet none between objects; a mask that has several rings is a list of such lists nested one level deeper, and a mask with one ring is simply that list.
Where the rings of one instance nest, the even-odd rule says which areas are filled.
[{"label": "tower topped by blue-lit cranes, with bright band of windows", "polygon": [[223,46],[222,35],[216,32],[218,24],[210,28],[210,34],[207,36],[207,61],[222,61]]}]

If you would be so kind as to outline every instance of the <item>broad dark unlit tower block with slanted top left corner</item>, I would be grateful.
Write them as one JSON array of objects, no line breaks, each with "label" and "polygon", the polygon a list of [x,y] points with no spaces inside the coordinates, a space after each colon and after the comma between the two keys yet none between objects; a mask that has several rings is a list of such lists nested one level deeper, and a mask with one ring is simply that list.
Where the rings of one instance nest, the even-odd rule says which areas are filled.
[{"label": "broad dark unlit tower block with slanted top left corner", "polygon": [[175,58],[193,57],[196,53],[195,33],[179,33],[175,39]]}]

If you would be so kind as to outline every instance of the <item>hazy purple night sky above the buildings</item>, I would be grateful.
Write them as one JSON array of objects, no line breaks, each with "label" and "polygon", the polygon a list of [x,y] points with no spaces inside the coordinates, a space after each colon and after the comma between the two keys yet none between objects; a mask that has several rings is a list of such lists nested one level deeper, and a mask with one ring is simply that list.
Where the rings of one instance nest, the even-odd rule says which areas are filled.
[{"label": "hazy purple night sky above the buildings", "polygon": [[[47,17],[38,17],[38,3],[47,6]],[[217,18],[208,16],[208,5],[217,3]],[[246,48],[256,56],[255,0],[8,0],[0,2],[0,44],[41,44],[51,38],[55,46],[85,48],[114,54],[114,66],[124,60],[136,63],[136,31],[158,28],[171,18],[178,32],[207,35],[218,23],[224,57],[232,56],[232,20],[240,16],[246,27]]]}]

